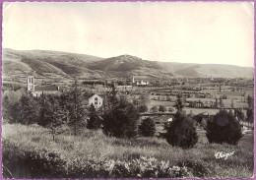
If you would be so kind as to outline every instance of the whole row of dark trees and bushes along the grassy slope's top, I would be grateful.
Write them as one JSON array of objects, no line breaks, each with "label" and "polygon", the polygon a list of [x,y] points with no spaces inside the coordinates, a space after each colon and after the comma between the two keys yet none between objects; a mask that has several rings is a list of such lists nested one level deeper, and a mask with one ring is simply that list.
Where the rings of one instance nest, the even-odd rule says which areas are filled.
[{"label": "whole row of dark trees and bushes along the grassy slope's top", "polygon": [[[4,121],[21,123],[25,125],[38,124],[49,130],[53,141],[56,136],[64,133],[69,128],[73,135],[79,135],[84,128],[102,129],[106,136],[117,138],[134,138],[138,134],[146,137],[155,136],[156,125],[154,120],[148,118],[139,125],[140,112],[147,110],[145,95],[128,98],[125,94],[118,93],[112,85],[103,101],[103,110],[99,114],[92,104],[88,107],[84,95],[75,82],[74,88],[60,95],[42,94],[40,97],[23,95],[15,103],[6,97],[3,101]],[[249,109],[247,119],[253,122],[254,100],[248,97]],[[177,95],[175,102],[176,114],[173,120],[165,125],[166,133],[162,135],[172,145],[184,149],[193,148],[198,142],[196,120],[192,114],[186,115],[183,111],[184,98]],[[166,111],[160,106],[161,112]],[[173,109],[172,109],[173,110]],[[228,143],[236,145],[242,137],[240,120],[244,115],[240,109],[234,114],[220,109],[213,119],[206,125],[207,138],[210,143]]]}]

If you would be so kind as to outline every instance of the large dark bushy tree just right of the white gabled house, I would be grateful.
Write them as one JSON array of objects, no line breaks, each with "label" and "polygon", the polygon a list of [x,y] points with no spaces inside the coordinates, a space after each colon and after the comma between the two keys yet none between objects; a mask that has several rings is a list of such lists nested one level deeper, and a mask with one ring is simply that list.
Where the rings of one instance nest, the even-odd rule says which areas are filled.
[{"label": "large dark bushy tree just right of the white gabled house", "polygon": [[135,137],[140,117],[136,107],[125,98],[120,98],[118,104],[103,115],[104,134],[117,138]]}]

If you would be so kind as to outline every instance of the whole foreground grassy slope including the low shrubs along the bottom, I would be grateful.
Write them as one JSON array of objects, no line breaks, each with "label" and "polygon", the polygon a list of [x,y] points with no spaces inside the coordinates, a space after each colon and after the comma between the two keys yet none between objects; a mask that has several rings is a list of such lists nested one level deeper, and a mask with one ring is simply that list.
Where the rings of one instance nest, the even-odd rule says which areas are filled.
[{"label": "whole foreground grassy slope including the low shrubs along the bottom", "polygon": [[[66,133],[53,142],[47,130],[39,126],[5,124],[2,129],[3,169],[7,178],[253,176],[252,133],[246,134],[237,146],[230,146],[208,144],[205,132],[198,130],[195,148],[182,150],[172,148],[163,139],[116,139],[100,131],[85,130],[77,137]],[[218,159],[215,153],[219,151],[234,154],[226,160]],[[160,174],[160,169],[169,169],[172,176]]]}]

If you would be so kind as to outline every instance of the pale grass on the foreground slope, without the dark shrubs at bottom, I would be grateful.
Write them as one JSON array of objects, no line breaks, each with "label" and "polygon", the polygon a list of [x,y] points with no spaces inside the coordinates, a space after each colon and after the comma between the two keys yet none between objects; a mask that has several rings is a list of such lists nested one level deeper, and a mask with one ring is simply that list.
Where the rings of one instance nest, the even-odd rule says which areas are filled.
[{"label": "pale grass on the foreground slope, without the dark shrubs at bottom", "polygon": [[[170,166],[188,167],[192,174],[185,176],[186,178],[251,178],[253,176],[252,134],[246,134],[237,146],[230,146],[209,144],[204,131],[198,131],[199,142],[195,148],[182,150],[169,146],[163,139],[142,137],[132,140],[116,139],[106,137],[99,130],[85,130],[77,137],[68,133],[59,135],[56,142],[53,142],[47,130],[39,126],[5,124],[2,129],[3,165],[7,166],[16,178],[32,178],[35,174],[35,172],[21,174],[17,169],[13,169],[13,166],[8,166],[11,161],[12,164],[19,164],[18,159],[21,159],[19,156],[11,158],[12,156],[15,157],[17,154],[22,156],[29,152],[37,155],[47,153],[47,156],[55,154],[59,160],[51,159],[54,162],[52,162],[54,166],[50,166],[52,169],[56,169],[58,163],[65,163],[66,170],[74,172],[78,164],[102,160],[129,161],[145,156],[154,157],[158,162],[168,160]],[[215,153],[218,151],[234,151],[234,155],[226,160],[217,159]],[[29,169],[29,171],[33,170]],[[53,174],[50,174],[50,177],[59,177],[57,172],[52,170]],[[79,172],[76,175],[85,177],[82,174],[80,176]],[[95,174],[94,177],[100,177],[100,174]]]}]

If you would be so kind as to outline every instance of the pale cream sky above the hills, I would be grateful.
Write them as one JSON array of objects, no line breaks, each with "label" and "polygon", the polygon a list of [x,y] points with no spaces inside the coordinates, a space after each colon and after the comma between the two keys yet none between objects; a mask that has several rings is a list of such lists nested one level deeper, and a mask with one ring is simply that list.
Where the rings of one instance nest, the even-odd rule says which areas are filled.
[{"label": "pale cream sky above the hills", "polygon": [[251,2],[5,2],[3,48],[254,67]]}]

